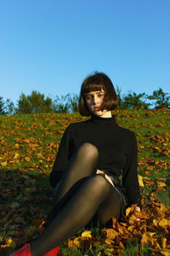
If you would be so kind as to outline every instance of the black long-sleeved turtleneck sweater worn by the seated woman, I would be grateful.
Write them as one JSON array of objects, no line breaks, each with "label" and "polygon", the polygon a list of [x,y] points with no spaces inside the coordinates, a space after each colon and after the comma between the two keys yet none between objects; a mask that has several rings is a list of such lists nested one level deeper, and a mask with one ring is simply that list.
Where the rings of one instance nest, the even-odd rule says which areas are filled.
[{"label": "black long-sleeved turtleneck sweater worn by the seated woman", "polygon": [[91,119],[69,125],[59,144],[59,152],[54,161],[49,181],[54,187],[62,177],[71,154],[82,145],[92,143],[99,150],[97,169],[122,175],[122,186],[126,189],[128,206],[138,203],[139,180],[137,173],[137,140],[128,129],[116,124],[116,115],[111,118],[92,116]]}]

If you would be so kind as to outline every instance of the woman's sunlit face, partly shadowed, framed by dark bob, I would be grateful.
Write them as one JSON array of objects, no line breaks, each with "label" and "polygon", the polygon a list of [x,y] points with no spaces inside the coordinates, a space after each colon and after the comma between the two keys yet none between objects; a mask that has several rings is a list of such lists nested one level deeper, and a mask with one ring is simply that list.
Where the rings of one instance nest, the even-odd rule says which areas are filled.
[{"label": "woman's sunlit face, partly shadowed, framed by dark bob", "polygon": [[93,90],[85,94],[85,101],[88,107],[88,110],[93,115],[105,117],[105,113],[108,113],[108,110],[100,110],[101,103],[104,100],[105,90]]}]

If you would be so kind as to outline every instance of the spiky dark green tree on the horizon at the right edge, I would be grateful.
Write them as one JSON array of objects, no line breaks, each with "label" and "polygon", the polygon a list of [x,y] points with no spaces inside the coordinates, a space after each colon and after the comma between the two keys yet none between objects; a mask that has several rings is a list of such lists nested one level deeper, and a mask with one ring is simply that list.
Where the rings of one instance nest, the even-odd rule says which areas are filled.
[{"label": "spiky dark green tree on the horizon at the right edge", "polygon": [[169,93],[165,93],[159,87],[159,90],[154,90],[152,96],[147,96],[149,100],[155,100],[152,105],[158,108],[170,108],[170,96],[167,96]]}]

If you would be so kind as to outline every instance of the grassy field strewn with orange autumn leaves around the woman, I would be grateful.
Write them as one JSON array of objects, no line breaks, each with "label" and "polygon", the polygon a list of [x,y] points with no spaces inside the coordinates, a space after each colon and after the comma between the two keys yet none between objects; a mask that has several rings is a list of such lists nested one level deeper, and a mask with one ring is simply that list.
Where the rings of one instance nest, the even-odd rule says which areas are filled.
[{"label": "grassy field strewn with orange autumn leaves around the woman", "polygon": [[[62,254],[170,255],[170,110],[115,113],[137,137],[142,212],[131,207],[121,222],[113,218],[111,229],[80,230]],[[60,138],[67,125],[85,119],[78,113],[0,116],[0,255],[38,236],[53,205],[48,175]]]}]

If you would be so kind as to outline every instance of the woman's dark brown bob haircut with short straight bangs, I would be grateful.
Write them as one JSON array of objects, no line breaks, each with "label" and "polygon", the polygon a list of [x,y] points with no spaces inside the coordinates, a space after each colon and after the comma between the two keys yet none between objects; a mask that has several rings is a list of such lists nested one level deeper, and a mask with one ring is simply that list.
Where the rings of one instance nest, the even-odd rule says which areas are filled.
[{"label": "woman's dark brown bob haircut with short straight bangs", "polygon": [[111,83],[111,79],[109,79],[105,73],[95,72],[94,75],[88,76],[82,82],[78,105],[79,112],[82,114],[82,116],[91,115],[86,105],[85,95],[93,90],[105,91],[104,101],[101,104],[102,110],[114,110],[116,108],[118,101],[115,88]]}]

